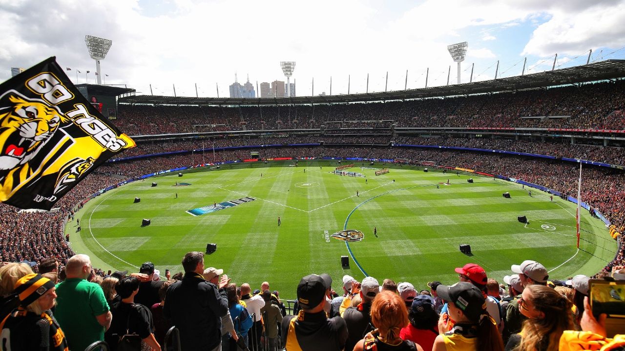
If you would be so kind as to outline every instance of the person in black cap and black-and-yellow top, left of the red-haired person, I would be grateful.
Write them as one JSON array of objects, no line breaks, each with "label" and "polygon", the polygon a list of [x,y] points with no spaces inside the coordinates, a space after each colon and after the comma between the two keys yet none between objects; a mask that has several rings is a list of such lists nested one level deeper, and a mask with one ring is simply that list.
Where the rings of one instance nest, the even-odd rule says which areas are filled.
[{"label": "person in black cap and black-and-yellow top, left of the red-haired person", "polygon": [[286,351],[340,351],[347,341],[347,327],[341,317],[328,319],[323,311],[326,285],[316,274],[306,275],[297,285],[297,316],[282,319],[282,346]]}]

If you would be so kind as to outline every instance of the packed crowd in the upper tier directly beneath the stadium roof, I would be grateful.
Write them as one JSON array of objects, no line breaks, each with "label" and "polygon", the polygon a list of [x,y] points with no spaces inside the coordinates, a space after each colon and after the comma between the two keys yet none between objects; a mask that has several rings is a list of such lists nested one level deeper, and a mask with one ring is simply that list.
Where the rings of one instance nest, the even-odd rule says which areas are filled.
[{"label": "packed crowd in the upper tier directly beneath the stadium roof", "polygon": [[[625,81],[491,95],[291,106],[119,106],[114,123],[149,135],[274,129],[552,127],[625,129]],[[344,134],[345,131],[341,131]]]}]

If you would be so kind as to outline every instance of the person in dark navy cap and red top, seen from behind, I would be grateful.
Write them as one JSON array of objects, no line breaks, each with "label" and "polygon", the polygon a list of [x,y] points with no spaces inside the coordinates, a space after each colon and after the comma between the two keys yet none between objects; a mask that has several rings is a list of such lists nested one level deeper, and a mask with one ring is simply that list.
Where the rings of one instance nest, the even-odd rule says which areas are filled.
[{"label": "person in dark navy cap and red top, seen from behind", "polygon": [[429,295],[418,295],[412,300],[408,311],[410,323],[401,329],[402,340],[412,340],[425,351],[432,351],[438,335],[438,314],[434,310],[434,299]]}]

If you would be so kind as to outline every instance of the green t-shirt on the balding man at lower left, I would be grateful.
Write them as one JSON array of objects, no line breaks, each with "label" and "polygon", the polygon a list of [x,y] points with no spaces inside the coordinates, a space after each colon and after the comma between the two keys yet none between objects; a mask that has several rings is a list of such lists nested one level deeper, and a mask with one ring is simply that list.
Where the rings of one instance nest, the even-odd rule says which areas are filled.
[{"label": "green t-shirt on the balding man at lower left", "polygon": [[68,340],[69,349],[82,351],[91,343],[104,340],[104,327],[97,315],[109,310],[100,285],[81,278],[66,279],[56,285],[54,316]]}]

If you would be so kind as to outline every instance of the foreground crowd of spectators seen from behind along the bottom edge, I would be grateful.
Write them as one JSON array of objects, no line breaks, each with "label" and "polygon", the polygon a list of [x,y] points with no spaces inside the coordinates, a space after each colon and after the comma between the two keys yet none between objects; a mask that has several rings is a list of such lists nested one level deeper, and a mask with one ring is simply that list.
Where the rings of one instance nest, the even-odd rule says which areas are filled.
[{"label": "foreground crowd of spectators seen from behind along the bottom edge", "polygon": [[[82,351],[106,342],[111,350],[156,351],[166,344],[211,351],[621,350],[625,337],[604,314],[593,314],[599,305],[589,304],[589,277],[556,280],[533,260],[503,277],[469,263],[454,269],[457,281],[424,287],[309,274],[291,292],[291,314],[269,282],[254,290],[235,283],[224,270],[206,268],[202,252],[188,252],[181,263],[184,272],[166,270],[164,277],[152,262],[138,273],[98,277],[82,254],[64,267],[44,259],[39,274],[2,262],[0,349]],[[625,269],[604,275],[622,280]],[[168,339],[171,327],[179,341]]]}]

